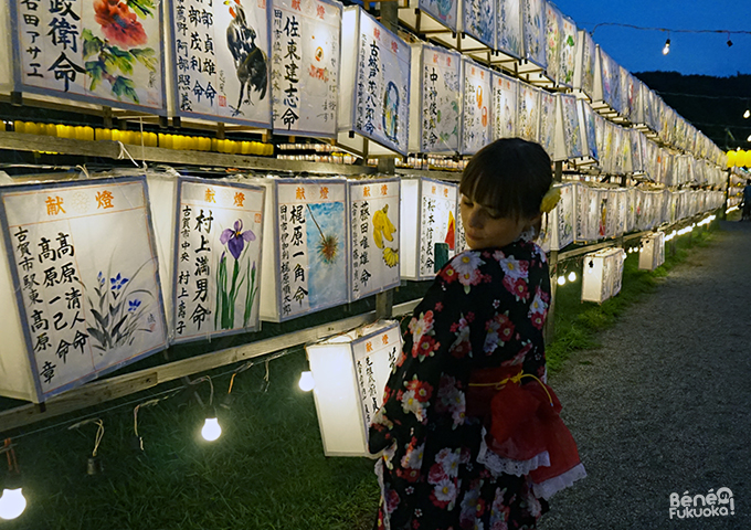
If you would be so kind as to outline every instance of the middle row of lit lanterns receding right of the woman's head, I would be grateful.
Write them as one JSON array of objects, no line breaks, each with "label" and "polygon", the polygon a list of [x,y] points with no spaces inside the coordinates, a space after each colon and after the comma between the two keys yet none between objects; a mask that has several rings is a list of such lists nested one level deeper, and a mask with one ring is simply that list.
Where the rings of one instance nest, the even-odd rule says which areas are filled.
[{"label": "middle row of lit lanterns receding right of the woman's head", "polygon": [[561,200],[544,224],[540,245],[560,251],[570,243],[617,237],[653,230],[720,208],[721,191],[645,191],[637,188],[597,188],[560,184]]}]

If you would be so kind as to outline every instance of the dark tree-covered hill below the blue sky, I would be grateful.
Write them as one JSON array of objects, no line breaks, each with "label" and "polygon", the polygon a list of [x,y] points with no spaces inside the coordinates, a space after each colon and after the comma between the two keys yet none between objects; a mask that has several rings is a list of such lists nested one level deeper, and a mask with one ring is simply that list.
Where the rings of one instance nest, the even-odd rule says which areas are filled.
[{"label": "dark tree-covered hill below the blue sky", "polygon": [[751,118],[743,118],[745,109],[751,109],[751,75],[712,77],[678,72],[634,75],[721,149],[751,149],[747,141]]}]

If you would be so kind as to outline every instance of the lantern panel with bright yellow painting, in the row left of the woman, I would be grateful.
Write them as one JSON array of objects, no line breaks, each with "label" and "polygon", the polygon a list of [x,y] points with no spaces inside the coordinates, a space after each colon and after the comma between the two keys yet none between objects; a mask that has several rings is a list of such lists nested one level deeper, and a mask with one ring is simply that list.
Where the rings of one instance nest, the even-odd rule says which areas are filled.
[{"label": "lantern panel with bright yellow painting, in the row left of the woman", "polygon": [[351,300],[399,286],[399,191],[398,178],[349,181]]}]

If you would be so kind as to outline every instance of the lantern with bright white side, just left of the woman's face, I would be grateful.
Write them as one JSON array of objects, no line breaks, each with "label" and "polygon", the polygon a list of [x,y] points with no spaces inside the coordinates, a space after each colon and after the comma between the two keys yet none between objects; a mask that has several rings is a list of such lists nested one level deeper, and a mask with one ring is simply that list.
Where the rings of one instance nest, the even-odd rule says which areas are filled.
[{"label": "lantern with bright white side, just left of the woman's face", "polygon": [[456,253],[458,186],[425,178],[402,179],[403,279],[433,279]]}]

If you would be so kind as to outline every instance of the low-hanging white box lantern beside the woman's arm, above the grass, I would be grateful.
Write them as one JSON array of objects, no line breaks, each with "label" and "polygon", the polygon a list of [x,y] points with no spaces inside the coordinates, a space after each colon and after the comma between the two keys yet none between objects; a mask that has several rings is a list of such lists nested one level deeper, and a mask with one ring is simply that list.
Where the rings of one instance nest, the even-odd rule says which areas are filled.
[{"label": "low-hanging white box lantern beside the woman's arm, above the grass", "polygon": [[401,354],[399,324],[382,321],[305,348],[326,456],[368,456],[368,427]]}]

